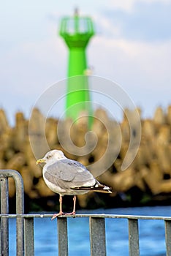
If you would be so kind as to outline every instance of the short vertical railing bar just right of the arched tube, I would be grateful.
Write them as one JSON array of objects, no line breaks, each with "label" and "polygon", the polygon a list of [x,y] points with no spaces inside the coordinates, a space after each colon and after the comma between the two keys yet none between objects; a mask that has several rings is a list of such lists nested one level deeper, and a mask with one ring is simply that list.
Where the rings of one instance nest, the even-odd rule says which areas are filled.
[{"label": "short vertical railing bar just right of the arched tube", "polygon": [[34,256],[34,218],[24,218],[24,255]]}]

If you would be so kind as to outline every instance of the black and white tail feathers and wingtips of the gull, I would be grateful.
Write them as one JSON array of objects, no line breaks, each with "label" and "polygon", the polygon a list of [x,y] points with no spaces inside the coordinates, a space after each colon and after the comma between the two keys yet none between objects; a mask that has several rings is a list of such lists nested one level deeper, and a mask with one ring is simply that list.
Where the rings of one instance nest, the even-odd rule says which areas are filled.
[{"label": "black and white tail feathers and wingtips of the gull", "polygon": [[91,191],[94,191],[94,192],[101,192],[101,193],[112,193],[112,188],[111,187],[107,187],[105,185],[102,185],[99,182],[94,184],[94,186],[91,186],[91,187],[72,187],[71,189],[91,190]]}]

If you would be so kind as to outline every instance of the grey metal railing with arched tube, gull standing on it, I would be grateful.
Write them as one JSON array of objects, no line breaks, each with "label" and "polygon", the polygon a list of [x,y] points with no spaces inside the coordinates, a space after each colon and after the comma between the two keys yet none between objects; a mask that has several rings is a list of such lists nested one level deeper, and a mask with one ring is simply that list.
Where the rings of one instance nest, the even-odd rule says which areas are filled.
[{"label": "grey metal railing with arched tube, gull standing on it", "polygon": [[[16,184],[16,214],[8,214],[8,184],[7,178],[15,179]],[[1,255],[9,255],[9,219],[16,219],[16,254],[17,256],[34,255],[34,219],[51,218],[53,214],[23,214],[23,181],[20,174],[13,170],[0,170],[1,179]],[[57,219],[58,255],[68,255],[68,225],[67,219],[73,216],[61,216]],[[171,256],[171,217],[132,216],[116,214],[76,214],[75,218],[88,218],[90,230],[91,256],[106,256],[105,219],[127,219],[129,227],[129,255],[139,256],[140,219],[163,220],[165,224],[166,255]]]}]

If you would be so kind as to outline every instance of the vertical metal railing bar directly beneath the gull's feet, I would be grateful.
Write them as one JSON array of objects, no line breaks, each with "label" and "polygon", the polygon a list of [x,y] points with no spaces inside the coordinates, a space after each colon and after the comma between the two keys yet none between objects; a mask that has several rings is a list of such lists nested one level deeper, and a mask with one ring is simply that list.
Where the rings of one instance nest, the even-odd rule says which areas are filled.
[{"label": "vertical metal railing bar directly beneath the gull's feet", "polygon": [[68,256],[67,218],[58,218],[58,255]]}]

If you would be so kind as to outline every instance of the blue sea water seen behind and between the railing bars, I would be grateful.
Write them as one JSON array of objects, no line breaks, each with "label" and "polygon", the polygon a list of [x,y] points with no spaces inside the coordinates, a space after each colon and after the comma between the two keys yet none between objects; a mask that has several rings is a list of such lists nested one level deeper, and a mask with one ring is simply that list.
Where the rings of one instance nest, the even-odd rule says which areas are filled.
[{"label": "blue sea water seen behind and between the railing bars", "polygon": [[[77,214],[124,214],[170,217],[171,206],[98,209]],[[127,219],[106,219],[107,256],[129,255]],[[34,219],[35,256],[58,255],[56,219]],[[165,256],[164,221],[139,220],[140,256]],[[69,256],[90,255],[88,218],[68,218]],[[15,219],[9,219],[9,255],[15,255]]]}]

